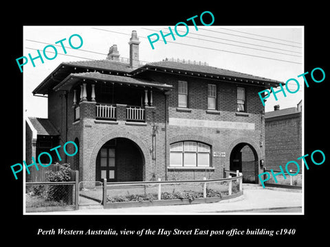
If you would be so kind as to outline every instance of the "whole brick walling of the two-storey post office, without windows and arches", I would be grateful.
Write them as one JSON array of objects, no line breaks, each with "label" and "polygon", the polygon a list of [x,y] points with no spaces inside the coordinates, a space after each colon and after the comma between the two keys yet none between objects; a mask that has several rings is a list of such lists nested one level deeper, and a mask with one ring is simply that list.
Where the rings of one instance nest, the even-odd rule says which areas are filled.
[{"label": "whole brick walling of the two-storey post office, without windows and arches", "polygon": [[[70,92],[67,101],[67,141],[79,140],[79,165],[80,180],[95,180],[96,179],[96,160],[97,155],[104,143],[113,138],[126,138],[136,143],[142,152],[143,165],[143,180],[155,180],[162,178],[178,179],[202,179],[207,178],[223,178],[223,167],[229,169],[229,156],[234,148],[234,145],[239,141],[245,141],[252,145],[259,154],[259,160],[264,158],[265,150],[260,143],[265,143],[264,123],[261,117],[264,111],[263,105],[260,102],[258,92],[262,88],[258,86],[246,86],[246,108],[248,116],[236,115],[236,84],[225,82],[217,82],[213,80],[205,80],[199,78],[184,77],[181,75],[170,75],[162,73],[149,73],[149,76],[157,82],[164,82],[174,86],[173,91],[168,96],[168,117],[186,118],[186,119],[203,119],[212,121],[233,121],[253,123],[254,130],[239,130],[229,128],[205,128],[191,127],[185,128],[182,126],[167,126],[167,139],[165,132],[165,115],[166,106],[164,92],[153,89],[153,107],[146,108],[146,126],[131,126],[124,121],[125,109],[122,109],[118,115],[118,121],[115,124],[104,124],[95,121],[95,103],[82,102],[80,103],[80,121],[74,123],[74,109],[72,108],[73,93]],[[182,112],[177,110],[177,80],[185,80],[188,82],[188,107],[190,112]],[[208,108],[208,83],[217,84],[217,114],[207,113]],[[87,99],[90,100],[90,85],[87,84]],[[96,86],[98,89],[98,86]],[[124,98],[127,98],[129,92],[134,92],[134,88],[126,87],[126,93],[118,96],[118,100],[124,103]],[[144,91],[139,90],[139,94]],[[150,95],[148,89],[148,95]],[[96,90],[96,100],[98,100],[98,90]],[[116,91],[117,93],[120,91]],[[124,91],[123,91],[124,92]],[[128,93],[128,94],[127,94]],[[65,98],[59,96],[60,93],[50,93],[49,118],[54,126],[58,128],[62,134],[62,139],[65,138],[63,133],[63,123],[65,126]],[[79,100],[77,93],[77,100]],[[139,96],[141,97],[141,95]],[[104,99],[104,98],[103,98]],[[144,98],[142,100],[144,102]],[[137,102],[135,99],[134,102]],[[118,103],[118,102],[115,102]],[[64,109],[63,109],[64,108]],[[118,110],[120,106],[118,107]],[[63,115],[64,114],[64,115]],[[120,115],[123,114],[123,115]],[[155,138],[153,133],[155,132]],[[169,164],[169,145],[174,140],[176,141],[201,141],[212,146],[212,152],[225,152],[225,158],[212,157],[212,167],[214,170],[181,170],[173,171],[167,169]],[[63,140],[62,140],[63,141]],[[65,141],[65,140],[64,140]],[[64,142],[61,144],[63,145]],[[151,150],[155,147],[155,155]],[[127,154],[126,154],[127,157]],[[69,163],[75,162],[74,157],[67,157]],[[259,167],[257,167],[259,168]],[[124,175],[123,175],[124,176]],[[131,175],[128,175],[131,176]],[[129,179],[128,177],[122,179]]]}]

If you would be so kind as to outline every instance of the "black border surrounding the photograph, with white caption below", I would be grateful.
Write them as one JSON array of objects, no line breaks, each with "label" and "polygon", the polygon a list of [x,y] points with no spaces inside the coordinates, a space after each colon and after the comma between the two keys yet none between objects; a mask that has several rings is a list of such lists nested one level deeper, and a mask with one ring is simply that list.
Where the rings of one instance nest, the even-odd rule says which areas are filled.
[{"label": "black border surrounding the photograph, with white caption below", "polygon": [[[59,240],[75,239],[84,240],[87,236],[43,236],[36,235],[38,228],[67,228],[67,229],[132,229],[140,228],[190,228],[222,229],[231,228],[296,228],[295,235],[285,236],[181,236],[190,242],[196,238],[203,243],[223,244],[228,240],[236,239],[257,240],[255,244],[264,244],[267,240],[276,240],[284,244],[289,239],[325,239],[327,227],[322,225],[323,218],[327,215],[327,174],[329,174],[329,148],[323,141],[327,135],[327,89],[329,74],[329,62],[326,63],[329,54],[329,41],[327,38],[327,6],[322,3],[305,3],[288,6],[287,2],[267,2],[263,5],[257,3],[239,3],[225,5],[222,1],[209,3],[191,2],[170,4],[169,2],[151,3],[126,3],[126,6],[118,6],[113,2],[76,2],[70,7],[69,3],[43,4],[23,6],[20,4],[14,9],[12,16],[1,18],[5,23],[5,59],[3,59],[3,72],[5,80],[3,89],[3,115],[5,123],[3,141],[3,236],[5,239],[14,240],[19,237],[23,242],[47,244],[46,239]],[[133,6],[133,4],[136,4]],[[188,5],[189,4],[189,8]],[[310,165],[305,170],[305,215],[23,215],[22,178],[14,180],[10,165],[20,163],[23,160],[23,76],[19,73],[16,58],[23,54],[23,25],[175,25],[175,23],[201,14],[203,11],[211,11],[215,21],[213,25],[304,25],[305,26],[305,71],[311,71],[315,67],[321,67],[326,73],[326,79],[320,84],[311,82],[309,88],[305,88],[305,154],[311,154],[314,150],[322,150],[326,154],[326,162],[323,165]],[[9,19],[9,20],[8,20]],[[7,54],[8,53],[8,54]],[[329,74],[329,75],[328,75]],[[295,75],[293,75],[294,77]],[[307,79],[310,77],[307,77]],[[9,128],[7,128],[7,126]],[[9,212],[8,212],[9,211]],[[8,213],[7,213],[8,212]],[[8,215],[8,217],[6,217]],[[5,218],[6,217],[6,218]],[[5,220],[6,219],[6,220]],[[8,219],[8,220],[7,220]],[[102,239],[107,244],[114,244],[111,236],[89,236],[93,239]],[[142,243],[159,244],[155,242],[170,240],[172,243],[177,236],[165,237],[162,235],[144,237],[115,237],[115,240],[134,240],[134,244]],[[215,242],[214,242],[215,240]],[[15,240],[14,240],[15,241]],[[54,244],[56,244],[54,242]],[[50,242],[49,242],[50,243]],[[98,243],[98,242],[94,242]],[[164,242],[165,243],[165,242]],[[35,244],[35,245],[39,245]],[[183,243],[181,243],[183,244]],[[234,244],[234,242],[232,242]],[[297,243],[298,244],[298,243]]]}]

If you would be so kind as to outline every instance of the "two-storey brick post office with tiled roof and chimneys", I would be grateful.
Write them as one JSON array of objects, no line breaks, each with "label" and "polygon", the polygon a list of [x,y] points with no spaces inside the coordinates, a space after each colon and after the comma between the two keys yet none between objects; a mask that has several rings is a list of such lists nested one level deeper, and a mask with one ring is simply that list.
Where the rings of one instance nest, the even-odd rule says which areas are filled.
[{"label": "two-storey brick post office with tiled roof and chimneys", "polygon": [[139,43],[133,31],[129,63],[113,45],[107,59],[62,62],[34,89],[48,97],[58,145],[79,147],[63,161],[80,180],[223,178],[225,168],[258,183],[265,159],[258,92],[281,82],[190,61],[142,65]]}]

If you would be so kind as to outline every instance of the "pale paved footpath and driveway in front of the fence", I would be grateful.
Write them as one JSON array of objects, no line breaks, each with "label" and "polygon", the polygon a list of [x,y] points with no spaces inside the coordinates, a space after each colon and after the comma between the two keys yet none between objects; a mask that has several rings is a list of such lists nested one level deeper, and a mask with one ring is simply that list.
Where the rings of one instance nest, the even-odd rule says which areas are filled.
[{"label": "pale paved footpath and driveway in front of the fence", "polygon": [[80,208],[78,211],[61,211],[47,214],[243,214],[290,213],[301,214],[302,193],[289,190],[255,189],[246,186],[243,196],[206,204],[135,207],[129,209]]}]

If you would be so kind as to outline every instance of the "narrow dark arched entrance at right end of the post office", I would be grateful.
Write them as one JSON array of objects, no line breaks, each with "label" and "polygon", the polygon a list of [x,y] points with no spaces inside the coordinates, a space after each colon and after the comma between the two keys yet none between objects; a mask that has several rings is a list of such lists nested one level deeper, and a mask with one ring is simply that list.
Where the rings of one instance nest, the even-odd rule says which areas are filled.
[{"label": "narrow dark arched entrance at right end of the post office", "polygon": [[243,183],[258,183],[259,158],[249,143],[238,143],[230,152],[230,170],[243,173]]}]

